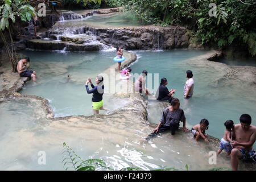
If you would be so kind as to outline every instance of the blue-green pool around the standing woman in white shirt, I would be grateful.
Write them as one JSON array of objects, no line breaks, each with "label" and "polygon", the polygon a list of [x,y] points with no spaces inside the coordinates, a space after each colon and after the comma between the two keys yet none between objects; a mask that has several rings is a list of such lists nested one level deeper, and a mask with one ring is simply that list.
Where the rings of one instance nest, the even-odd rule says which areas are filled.
[{"label": "blue-green pool around the standing woman in white shirt", "polygon": [[[227,65],[212,61],[188,60],[189,57],[199,56],[205,51],[138,51],[139,60],[132,65],[132,72],[138,73],[146,69],[148,73],[159,74],[160,83],[162,77],[168,80],[167,88],[176,89],[174,97],[179,98],[180,107],[184,110],[187,118],[187,127],[191,129],[201,119],[207,118],[209,129],[207,134],[221,139],[223,137],[225,126],[224,122],[232,119],[234,123],[239,123],[241,114],[251,115],[252,125],[256,125],[256,98],[255,84],[247,77],[247,82],[240,80],[238,77],[226,75],[232,71]],[[157,67],[156,67],[157,61]],[[240,68],[242,70],[242,68]],[[192,98],[184,100],[183,88],[187,78],[185,72],[191,70],[195,80],[195,88]],[[235,71],[232,71],[235,72]],[[153,78],[154,79],[154,78]],[[251,79],[254,79],[251,76]],[[152,87],[153,92],[154,81]],[[158,86],[156,86],[156,89]],[[155,90],[156,91],[156,90]],[[156,100],[148,100],[148,121],[159,123],[164,105],[159,106]],[[183,124],[180,123],[180,126]],[[256,149],[256,144],[254,144]]]}]

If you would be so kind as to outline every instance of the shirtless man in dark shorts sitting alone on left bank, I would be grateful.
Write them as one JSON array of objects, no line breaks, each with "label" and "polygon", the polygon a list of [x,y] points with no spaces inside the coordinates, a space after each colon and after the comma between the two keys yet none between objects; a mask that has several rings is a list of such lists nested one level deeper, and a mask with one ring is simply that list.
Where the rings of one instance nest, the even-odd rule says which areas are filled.
[{"label": "shirtless man in dark shorts sitting alone on left bank", "polygon": [[30,69],[26,69],[26,63],[30,61],[29,57],[25,57],[22,60],[19,60],[17,65],[17,71],[20,77],[32,77],[33,81],[36,81],[36,72]]}]

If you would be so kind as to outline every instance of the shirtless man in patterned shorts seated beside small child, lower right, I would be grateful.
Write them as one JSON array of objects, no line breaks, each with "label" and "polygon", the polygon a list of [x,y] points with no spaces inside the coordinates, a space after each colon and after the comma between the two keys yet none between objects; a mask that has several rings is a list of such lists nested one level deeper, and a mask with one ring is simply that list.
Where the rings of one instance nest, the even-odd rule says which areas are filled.
[{"label": "shirtless man in patterned shorts seated beside small child, lower right", "polygon": [[242,114],[240,124],[234,125],[232,134],[231,163],[233,171],[237,171],[238,159],[256,162],[253,144],[256,139],[256,127],[251,124],[249,114]]}]

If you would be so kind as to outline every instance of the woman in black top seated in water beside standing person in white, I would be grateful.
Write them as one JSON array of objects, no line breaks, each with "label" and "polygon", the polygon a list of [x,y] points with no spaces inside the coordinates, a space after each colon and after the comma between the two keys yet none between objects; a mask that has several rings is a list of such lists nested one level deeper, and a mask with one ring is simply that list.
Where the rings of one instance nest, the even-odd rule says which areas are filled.
[{"label": "woman in black top seated in water beside standing person in white", "polygon": [[175,89],[168,90],[168,88],[166,87],[167,84],[168,84],[167,79],[162,78],[160,86],[159,86],[158,90],[156,91],[155,98],[159,101],[168,100],[171,103],[172,98],[174,98],[174,96],[172,96],[172,94],[175,93],[176,90]]}]

